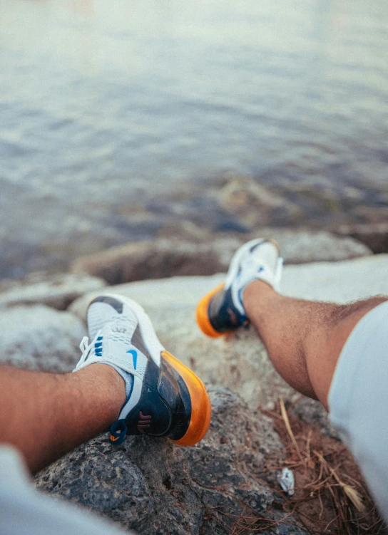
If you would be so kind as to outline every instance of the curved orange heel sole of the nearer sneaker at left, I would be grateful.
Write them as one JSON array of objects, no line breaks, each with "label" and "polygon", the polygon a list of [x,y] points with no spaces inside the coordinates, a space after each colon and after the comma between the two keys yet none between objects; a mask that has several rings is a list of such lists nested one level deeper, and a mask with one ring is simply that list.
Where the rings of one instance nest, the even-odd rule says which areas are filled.
[{"label": "curved orange heel sole of the nearer sneaker at left", "polygon": [[172,440],[180,446],[193,446],[205,437],[209,429],[212,416],[212,405],[206,392],[205,385],[195,373],[175,358],[168,351],[162,351],[162,356],[176,370],[186,383],[191,400],[191,418],[188,430],[179,440]]}]

